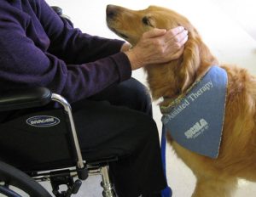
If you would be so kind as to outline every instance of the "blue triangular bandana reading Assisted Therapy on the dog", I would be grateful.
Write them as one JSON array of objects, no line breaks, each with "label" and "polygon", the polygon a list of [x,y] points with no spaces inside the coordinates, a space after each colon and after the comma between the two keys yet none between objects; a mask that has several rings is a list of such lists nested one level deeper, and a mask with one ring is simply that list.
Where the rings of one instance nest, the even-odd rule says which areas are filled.
[{"label": "blue triangular bandana reading Assisted Therapy on the dog", "polygon": [[200,155],[218,157],[227,82],[226,71],[212,66],[185,96],[160,107],[162,122],[178,144]]}]

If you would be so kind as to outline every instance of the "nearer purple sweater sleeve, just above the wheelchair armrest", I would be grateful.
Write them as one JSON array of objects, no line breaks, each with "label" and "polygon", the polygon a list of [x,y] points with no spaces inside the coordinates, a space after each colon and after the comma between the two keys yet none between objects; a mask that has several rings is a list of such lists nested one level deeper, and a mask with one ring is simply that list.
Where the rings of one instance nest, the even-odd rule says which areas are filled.
[{"label": "nearer purple sweater sleeve, just above the wheelchair armrest", "polygon": [[[74,102],[131,77],[131,65],[125,53],[115,53],[110,56],[107,54],[102,59],[84,64],[67,63],[65,59],[60,59],[48,50],[38,48],[37,44],[27,37],[29,29],[33,28],[32,19],[29,16],[20,14],[12,8],[3,8],[0,13],[1,18],[1,90],[44,86],[49,87],[54,93],[60,93],[69,102]],[[58,26],[63,23],[56,20],[53,24]],[[79,36],[78,33],[72,35]],[[58,37],[58,33],[53,31],[50,39],[57,40],[55,37]],[[67,42],[73,42],[70,39],[70,37],[63,38]],[[85,45],[86,42],[84,41]],[[73,47],[73,50],[77,53],[81,49]]]}]

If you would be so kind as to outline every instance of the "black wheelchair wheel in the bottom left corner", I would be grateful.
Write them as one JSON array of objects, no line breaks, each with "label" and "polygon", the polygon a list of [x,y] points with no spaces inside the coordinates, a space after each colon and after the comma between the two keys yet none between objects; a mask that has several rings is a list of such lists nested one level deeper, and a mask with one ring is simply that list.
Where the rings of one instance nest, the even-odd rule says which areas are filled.
[{"label": "black wheelchair wheel in the bottom left corner", "polygon": [[23,197],[24,195],[52,197],[43,186],[26,173],[0,161],[0,196]]}]

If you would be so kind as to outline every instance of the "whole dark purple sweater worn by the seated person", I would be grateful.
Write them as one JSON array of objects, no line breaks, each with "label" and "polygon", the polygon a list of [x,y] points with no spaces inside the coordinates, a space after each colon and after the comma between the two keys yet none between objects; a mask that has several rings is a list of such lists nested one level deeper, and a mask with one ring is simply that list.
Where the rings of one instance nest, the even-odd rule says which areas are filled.
[{"label": "whole dark purple sweater worn by the seated person", "polygon": [[123,43],[73,29],[44,0],[1,0],[0,92],[43,86],[87,98],[131,77]]}]

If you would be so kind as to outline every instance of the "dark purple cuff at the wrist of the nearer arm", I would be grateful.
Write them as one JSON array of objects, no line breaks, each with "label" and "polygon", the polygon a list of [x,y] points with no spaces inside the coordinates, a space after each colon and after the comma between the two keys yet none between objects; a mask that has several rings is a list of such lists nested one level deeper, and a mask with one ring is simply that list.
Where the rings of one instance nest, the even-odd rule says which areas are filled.
[{"label": "dark purple cuff at the wrist of the nearer arm", "polygon": [[119,82],[131,78],[131,63],[125,53],[119,52],[111,56],[119,71]]}]

